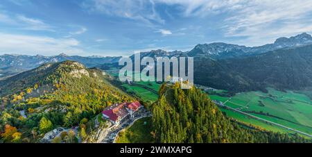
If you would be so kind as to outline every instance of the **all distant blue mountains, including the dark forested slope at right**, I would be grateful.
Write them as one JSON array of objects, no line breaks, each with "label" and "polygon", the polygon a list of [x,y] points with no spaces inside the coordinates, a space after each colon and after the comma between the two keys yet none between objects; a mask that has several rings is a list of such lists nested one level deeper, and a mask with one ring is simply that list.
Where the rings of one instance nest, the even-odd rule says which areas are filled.
[{"label": "all distant blue mountains, including the dark forested slope at right", "polygon": [[[312,87],[311,56],[312,37],[302,33],[291,38],[278,38],[272,44],[245,47],[215,42],[198,44],[191,51],[164,51],[161,49],[141,53],[141,57],[195,58],[195,83],[217,89],[245,91],[262,90],[266,87],[300,89]],[[67,56],[0,56],[0,79],[44,63],[75,60],[87,67],[118,66],[121,57]],[[134,58],[134,56],[130,56]],[[105,66],[104,66],[105,65]]]}]

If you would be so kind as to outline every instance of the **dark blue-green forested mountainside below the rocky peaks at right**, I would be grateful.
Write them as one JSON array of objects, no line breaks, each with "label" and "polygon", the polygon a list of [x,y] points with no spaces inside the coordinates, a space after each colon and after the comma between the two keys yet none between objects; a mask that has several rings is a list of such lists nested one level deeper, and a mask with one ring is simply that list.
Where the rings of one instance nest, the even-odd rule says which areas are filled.
[{"label": "dark blue-green forested mountainside below the rocky peaks at right", "polygon": [[234,91],[301,90],[312,87],[312,45],[258,56],[212,60],[195,58],[195,83]]}]

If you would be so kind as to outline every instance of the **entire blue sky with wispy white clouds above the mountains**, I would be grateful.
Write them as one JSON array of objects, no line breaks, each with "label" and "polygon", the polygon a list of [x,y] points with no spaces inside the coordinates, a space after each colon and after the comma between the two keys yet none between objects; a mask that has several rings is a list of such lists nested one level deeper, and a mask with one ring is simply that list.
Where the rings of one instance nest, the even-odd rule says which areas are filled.
[{"label": "entire blue sky with wispy white clouds above the mountains", "polygon": [[312,1],[1,0],[0,54],[128,56],[312,32]]}]

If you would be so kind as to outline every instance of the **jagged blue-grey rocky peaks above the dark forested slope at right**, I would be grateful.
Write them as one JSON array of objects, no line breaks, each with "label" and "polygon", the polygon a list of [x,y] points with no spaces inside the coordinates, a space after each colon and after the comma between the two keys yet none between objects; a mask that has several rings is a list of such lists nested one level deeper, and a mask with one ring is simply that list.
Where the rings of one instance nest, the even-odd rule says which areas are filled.
[{"label": "jagged blue-grey rocky peaks above the dark forested slope at right", "polygon": [[[291,38],[278,38],[272,44],[265,44],[259,47],[245,47],[238,44],[227,44],[223,42],[214,42],[211,44],[198,44],[191,51],[164,51],[162,49],[141,52],[141,58],[143,57],[204,57],[212,58],[214,60],[226,59],[226,58],[239,58],[245,56],[254,56],[268,51],[274,51],[277,49],[287,49],[292,47],[302,47],[312,44],[312,37],[307,33],[302,33]],[[130,58],[134,58],[130,56]]]}]

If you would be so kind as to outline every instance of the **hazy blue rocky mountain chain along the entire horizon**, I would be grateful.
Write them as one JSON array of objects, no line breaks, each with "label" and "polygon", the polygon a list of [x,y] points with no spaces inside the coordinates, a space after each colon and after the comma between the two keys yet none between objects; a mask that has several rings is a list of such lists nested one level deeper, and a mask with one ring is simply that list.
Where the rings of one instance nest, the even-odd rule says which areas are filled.
[{"label": "hazy blue rocky mountain chain along the entire horizon", "polygon": [[[163,57],[163,56],[190,56],[209,57],[215,60],[224,58],[236,58],[240,56],[252,56],[276,49],[291,47],[301,47],[312,44],[312,37],[307,33],[302,33],[291,38],[278,38],[273,44],[265,44],[260,47],[245,47],[237,44],[227,44],[214,42],[211,44],[198,44],[191,51],[164,51],[162,49],[141,52],[141,57]],[[130,56],[131,58],[133,56]],[[27,56],[27,55],[1,55],[0,68],[15,67],[17,69],[32,69],[44,63],[57,63],[64,60],[74,60],[83,63],[87,67],[94,67],[104,63],[116,63],[121,57],[101,57],[101,56],[67,56],[61,53],[58,56]]]}]

